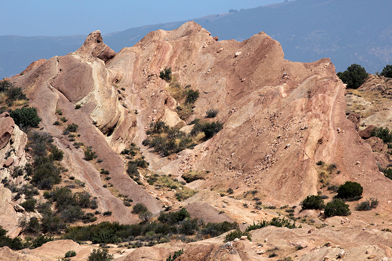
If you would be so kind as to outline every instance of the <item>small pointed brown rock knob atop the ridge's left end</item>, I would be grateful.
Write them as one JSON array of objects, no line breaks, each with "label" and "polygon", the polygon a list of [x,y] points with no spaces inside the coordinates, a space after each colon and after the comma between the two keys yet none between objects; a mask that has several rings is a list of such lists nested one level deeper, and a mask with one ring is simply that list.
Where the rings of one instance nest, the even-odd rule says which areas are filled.
[{"label": "small pointed brown rock knob atop the ridge's left end", "polygon": [[84,44],[74,53],[79,54],[82,57],[97,57],[105,63],[116,55],[114,50],[103,43],[99,30],[91,32],[87,36],[86,41],[84,41]]}]

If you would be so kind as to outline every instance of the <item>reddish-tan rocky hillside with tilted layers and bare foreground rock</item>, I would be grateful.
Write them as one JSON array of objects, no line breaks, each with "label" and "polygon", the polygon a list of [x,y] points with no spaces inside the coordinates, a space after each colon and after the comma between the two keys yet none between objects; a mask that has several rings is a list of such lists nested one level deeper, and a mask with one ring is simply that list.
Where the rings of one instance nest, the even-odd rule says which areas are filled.
[{"label": "reddish-tan rocky hillside with tilted layers and bare foreground rock", "polygon": [[[264,32],[241,43],[218,41],[188,22],[173,31],[150,32],[118,53],[95,31],[75,52],[36,63],[9,80],[23,88],[42,118],[41,130],[64,151],[67,175],[85,182],[85,189],[98,197],[99,210],[112,212],[104,220],[139,221],[116,197],[121,194],[132,198],[133,206],[145,204],[155,216],[164,207],[181,206],[204,220],[237,221],[243,230],[278,214],[293,213],[302,222],[302,228],[294,230],[254,230],[253,242],[243,238],[223,244],[223,236],[175,247],[171,242],[139,248],[125,260],[143,260],[143,253],[151,253],[150,260],[165,260],[181,248],[185,254],[178,260],[295,256],[305,261],[338,255],[358,260],[391,255],[392,234],[373,226],[382,223],[385,230],[391,223],[392,181],[379,171],[377,155],[358,135],[358,118],[356,124],[346,119],[345,86],[329,59],[290,62],[280,44]],[[76,142],[83,147],[76,148],[64,134],[65,123],[59,122],[63,118],[78,125]],[[200,129],[220,124],[222,129],[211,135],[210,129]],[[4,143],[11,144],[7,139],[12,131],[6,133]],[[140,147],[149,163],[148,170],[138,171],[137,180],[128,175],[129,160],[123,155],[130,146]],[[86,151],[96,152],[99,160],[86,161]],[[328,174],[324,164],[331,166]],[[113,187],[104,186],[102,169]],[[182,193],[197,193],[176,200],[175,190],[162,192],[152,185],[153,173],[182,182],[183,188],[176,187]],[[345,181],[360,183],[364,200],[379,201],[377,211],[354,213],[356,202],[348,203],[353,214],[347,219],[323,219],[319,211],[301,210],[299,203],[306,196],[319,193],[330,201],[335,194],[328,186]],[[4,206],[10,204],[7,198]],[[288,206],[293,211],[285,212]],[[16,228],[15,220],[7,228]],[[22,258],[6,248],[1,251]],[[274,252],[276,258],[269,259]]]}]

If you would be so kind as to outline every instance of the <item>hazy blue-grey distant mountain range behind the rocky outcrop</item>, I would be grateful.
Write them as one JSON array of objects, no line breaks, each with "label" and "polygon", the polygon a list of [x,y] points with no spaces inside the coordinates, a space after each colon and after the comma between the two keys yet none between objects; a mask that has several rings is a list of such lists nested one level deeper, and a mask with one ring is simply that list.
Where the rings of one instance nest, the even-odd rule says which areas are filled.
[{"label": "hazy blue-grey distant mountain range behind the rocky outcrop", "polygon": [[[243,41],[265,31],[279,41],[291,61],[329,57],[336,71],[357,63],[374,72],[392,62],[390,10],[390,0],[295,0],[193,20],[219,40]],[[103,38],[118,52],[150,31],[173,30],[184,22],[130,28]],[[0,78],[20,73],[34,60],[72,52],[85,39],[86,35],[0,36]]]}]

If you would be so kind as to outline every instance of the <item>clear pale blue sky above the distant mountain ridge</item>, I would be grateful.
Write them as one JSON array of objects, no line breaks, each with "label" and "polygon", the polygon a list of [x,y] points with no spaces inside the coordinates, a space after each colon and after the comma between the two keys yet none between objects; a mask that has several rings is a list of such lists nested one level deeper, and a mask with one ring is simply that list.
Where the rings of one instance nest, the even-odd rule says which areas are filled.
[{"label": "clear pale blue sky above the distant mountain ridge", "polygon": [[0,0],[0,35],[102,34],[283,0]]}]

